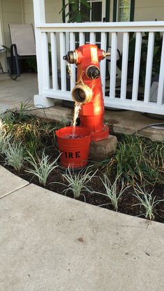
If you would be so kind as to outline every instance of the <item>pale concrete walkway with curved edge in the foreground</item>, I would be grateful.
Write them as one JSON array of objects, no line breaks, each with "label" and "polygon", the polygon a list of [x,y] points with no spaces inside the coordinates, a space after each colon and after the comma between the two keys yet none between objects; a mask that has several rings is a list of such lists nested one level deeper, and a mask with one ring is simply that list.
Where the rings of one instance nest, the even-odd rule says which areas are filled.
[{"label": "pale concrete walkway with curved edge in the foreground", "polygon": [[[164,226],[0,167],[1,291],[163,291]],[[6,195],[6,196],[5,196]]]}]

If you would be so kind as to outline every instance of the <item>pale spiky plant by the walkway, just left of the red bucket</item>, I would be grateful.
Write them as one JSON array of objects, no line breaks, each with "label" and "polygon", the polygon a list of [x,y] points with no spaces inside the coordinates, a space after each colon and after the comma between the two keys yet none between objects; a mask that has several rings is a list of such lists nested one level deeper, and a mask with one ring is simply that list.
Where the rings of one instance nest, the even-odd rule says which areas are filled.
[{"label": "pale spiky plant by the walkway, just left of the red bucket", "polygon": [[28,156],[29,158],[26,158],[26,160],[28,160],[28,163],[33,167],[33,169],[28,168],[26,172],[37,176],[40,184],[45,186],[49,174],[58,167],[56,162],[60,155],[52,163],[49,163],[50,157],[46,156],[44,151],[42,152],[42,157],[38,157],[38,160],[35,160],[29,152]]}]

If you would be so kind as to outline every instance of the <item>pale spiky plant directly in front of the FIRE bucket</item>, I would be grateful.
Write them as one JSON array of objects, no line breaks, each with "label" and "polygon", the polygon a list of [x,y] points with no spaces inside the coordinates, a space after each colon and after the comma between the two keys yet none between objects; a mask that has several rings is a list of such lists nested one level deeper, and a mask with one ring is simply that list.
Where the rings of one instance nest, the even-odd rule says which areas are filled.
[{"label": "pale spiky plant directly in front of the FIRE bucket", "polygon": [[97,171],[92,174],[92,171],[90,171],[90,167],[88,167],[87,169],[85,169],[85,171],[83,171],[82,169],[77,174],[74,173],[74,169],[71,166],[67,167],[65,174],[62,174],[62,176],[68,184],[60,183],[62,185],[65,185],[65,187],[67,188],[63,192],[67,194],[67,191],[71,190],[74,194],[74,198],[79,198],[80,195],[83,195],[85,200],[85,195],[82,192],[92,192],[87,186],[87,183],[95,176],[96,172]]}]

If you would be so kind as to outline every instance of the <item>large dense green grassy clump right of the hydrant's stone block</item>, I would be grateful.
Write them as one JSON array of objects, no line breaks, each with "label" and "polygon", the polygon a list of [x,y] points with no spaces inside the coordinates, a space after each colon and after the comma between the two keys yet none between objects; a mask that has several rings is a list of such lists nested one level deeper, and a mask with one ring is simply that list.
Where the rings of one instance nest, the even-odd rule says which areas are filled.
[{"label": "large dense green grassy clump right of the hydrant's stone block", "polygon": [[113,172],[122,175],[127,184],[163,183],[163,144],[146,138],[122,135],[115,153],[106,166],[108,176]]}]

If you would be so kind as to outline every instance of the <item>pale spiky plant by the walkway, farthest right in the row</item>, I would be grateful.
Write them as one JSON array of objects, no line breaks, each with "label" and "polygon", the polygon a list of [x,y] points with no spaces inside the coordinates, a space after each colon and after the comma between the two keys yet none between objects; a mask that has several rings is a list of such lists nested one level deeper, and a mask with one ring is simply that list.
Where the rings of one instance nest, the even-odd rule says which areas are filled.
[{"label": "pale spiky plant by the walkway, farthest right in the row", "polygon": [[154,208],[158,203],[164,201],[164,199],[156,200],[156,197],[152,197],[152,193],[154,192],[154,190],[149,193],[145,190],[145,188],[144,190],[142,190],[139,185],[137,186],[138,188],[134,188],[136,192],[136,194],[134,194],[134,197],[138,199],[139,203],[136,203],[133,206],[139,205],[140,208],[144,208],[145,213],[142,214],[145,215],[145,218],[148,218],[150,220],[154,219]]}]

